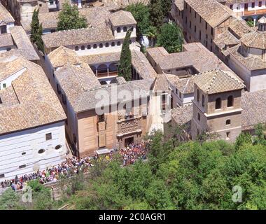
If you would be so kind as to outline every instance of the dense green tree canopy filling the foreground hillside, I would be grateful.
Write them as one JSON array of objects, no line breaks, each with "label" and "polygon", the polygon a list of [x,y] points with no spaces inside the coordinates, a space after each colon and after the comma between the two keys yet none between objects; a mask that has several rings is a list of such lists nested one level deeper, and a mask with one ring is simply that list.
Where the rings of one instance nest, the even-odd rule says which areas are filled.
[{"label": "dense green tree canopy filling the foreground hillside", "polygon": [[[261,130],[265,133],[258,125],[256,132]],[[241,134],[235,144],[181,143],[174,140],[179,131],[147,137],[147,161],[121,167],[116,157],[97,160],[88,174],[62,179],[64,197],[57,204],[43,186],[29,183],[34,203],[27,209],[57,209],[59,204],[69,209],[266,209],[265,134],[253,142]],[[241,192],[233,190],[236,186]],[[21,209],[16,201],[15,193],[6,191],[1,209]]]}]

